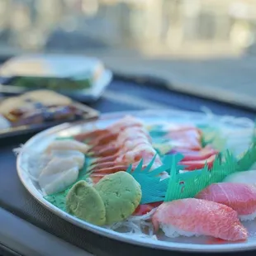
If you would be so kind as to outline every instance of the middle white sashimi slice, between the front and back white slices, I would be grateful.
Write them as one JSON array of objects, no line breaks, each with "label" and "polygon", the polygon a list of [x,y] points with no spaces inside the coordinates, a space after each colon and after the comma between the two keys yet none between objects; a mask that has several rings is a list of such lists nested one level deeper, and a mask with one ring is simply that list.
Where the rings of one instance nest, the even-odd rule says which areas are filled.
[{"label": "middle white sashimi slice, between the front and back white slices", "polygon": [[78,164],[79,168],[82,168],[85,162],[85,155],[77,150],[52,150],[50,156],[58,159],[71,159]]}]

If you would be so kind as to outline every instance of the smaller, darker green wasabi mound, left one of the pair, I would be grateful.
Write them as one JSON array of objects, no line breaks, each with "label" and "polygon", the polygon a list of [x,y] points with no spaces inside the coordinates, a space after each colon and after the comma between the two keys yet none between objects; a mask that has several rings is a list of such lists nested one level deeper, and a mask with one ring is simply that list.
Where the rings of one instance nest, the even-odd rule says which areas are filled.
[{"label": "smaller, darker green wasabi mound, left one of the pair", "polygon": [[85,181],[75,183],[66,197],[66,209],[73,216],[94,225],[105,225],[106,210],[97,190]]}]

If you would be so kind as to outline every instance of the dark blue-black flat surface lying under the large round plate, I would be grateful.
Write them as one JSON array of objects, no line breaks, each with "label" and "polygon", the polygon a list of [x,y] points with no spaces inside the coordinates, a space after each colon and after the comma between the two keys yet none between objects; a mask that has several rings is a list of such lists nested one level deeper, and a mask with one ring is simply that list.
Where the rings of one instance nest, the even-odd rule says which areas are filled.
[{"label": "dark blue-black flat surface lying under the large round plate", "polygon": [[[139,101],[144,97],[143,101]],[[168,108],[200,111],[202,106],[210,108],[216,114],[255,117],[254,112],[208,102],[203,99],[168,92],[164,88],[154,88],[150,84],[138,85],[132,82],[114,80],[98,102],[91,105],[102,112],[129,111],[145,108]],[[17,177],[16,158],[12,149],[25,142],[28,138],[8,141],[0,148],[0,207],[12,212],[15,216],[31,222],[57,237],[68,241],[96,255],[176,255],[170,252],[159,252],[154,249],[143,249],[134,245],[123,244],[111,239],[94,235],[54,216],[40,206],[21,185]],[[254,252],[255,254],[255,252]],[[178,254],[177,254],[178,255]],[[183,254],[184,255],[184,254]],[[239,254],[236,254],[239,255]],[[250,255],[246,253],[246,255]]]}]

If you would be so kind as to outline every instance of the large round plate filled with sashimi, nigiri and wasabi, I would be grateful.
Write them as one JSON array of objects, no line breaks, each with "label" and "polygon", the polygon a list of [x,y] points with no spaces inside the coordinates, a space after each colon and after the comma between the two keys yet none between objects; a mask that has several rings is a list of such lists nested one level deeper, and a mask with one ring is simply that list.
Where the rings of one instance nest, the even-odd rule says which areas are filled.
[{"label": "large round plate filled with sashimi, nigiri and wasabi", "polygon": [[15,152],[28,192],[73,225],[151,248],[256,249],[254,121],[116,112],[44,130]]}]

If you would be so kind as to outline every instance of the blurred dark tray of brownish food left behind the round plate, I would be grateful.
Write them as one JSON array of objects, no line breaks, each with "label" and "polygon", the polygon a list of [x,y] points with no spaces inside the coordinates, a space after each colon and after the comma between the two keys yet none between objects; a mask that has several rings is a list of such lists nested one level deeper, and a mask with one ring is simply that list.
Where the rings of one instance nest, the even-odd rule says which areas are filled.
[{"label": "blurred dark tray of brownish food left behind the round plate", "polygon": [[66,121],[92,120],[99,113],[48,90],[0,99],[0,139],[45,130]]}]

